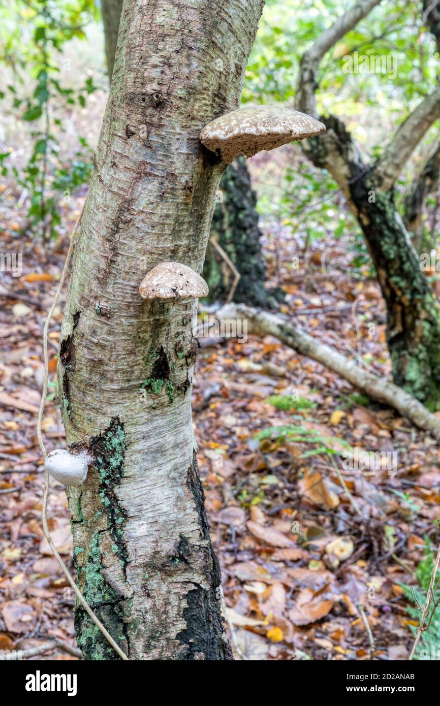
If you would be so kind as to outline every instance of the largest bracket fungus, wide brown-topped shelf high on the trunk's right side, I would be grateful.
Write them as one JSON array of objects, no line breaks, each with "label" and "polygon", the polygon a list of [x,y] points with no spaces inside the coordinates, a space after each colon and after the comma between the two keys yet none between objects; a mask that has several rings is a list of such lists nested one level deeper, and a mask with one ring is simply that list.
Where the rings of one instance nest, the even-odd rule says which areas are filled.
[{"label": "largest bracket fungus, wide brown-topped shelf high on the trunk's right side", "polygon": [[223,162],[274,150],[292,140],[321,135],[326,126],[305,113],[274,105],[250,105],[225,113],[200,133],[200,141]]}]

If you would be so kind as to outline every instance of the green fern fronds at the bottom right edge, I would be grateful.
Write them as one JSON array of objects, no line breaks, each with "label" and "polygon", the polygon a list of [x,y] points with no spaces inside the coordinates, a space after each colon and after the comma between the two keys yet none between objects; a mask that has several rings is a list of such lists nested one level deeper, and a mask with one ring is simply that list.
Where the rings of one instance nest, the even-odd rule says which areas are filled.
[{"label": "green fern fronds at the bottom right edge", "polygon": [[[435,554],[431,548],[431,542],[429,537],[424,538],[424,553],[422,561],[417,566],[416,578],[417,587],[408,586],[401,584],[403,590],[405,591],[405,596],[410,601],[410,606],[408,606],[408,614],[417,623],[420,621],[421,611],[419,606],[424,606],[427,593],[429,591],[429,584],[431,582],[432,572],[434,570]],[[438,581],[434,583],[434,600],[440,600],[440,588]],[[418,605],[417,605],[418,604]],[[427,625],[428,621],[425,622]],[[416,628],[412,627],[412,632],[416,633]],[[419,646],[417,647],[417,652],[414,659],[432,659],[433,655],[438,654],[440,646],[440,611],[436,609],[434,616],[432,617],[431,624],[429,628],[422,633],[420,638]],[[427,657],[426,650],[429,652],[429,657]],[[435,659],[435,657],[434,657]]]}]

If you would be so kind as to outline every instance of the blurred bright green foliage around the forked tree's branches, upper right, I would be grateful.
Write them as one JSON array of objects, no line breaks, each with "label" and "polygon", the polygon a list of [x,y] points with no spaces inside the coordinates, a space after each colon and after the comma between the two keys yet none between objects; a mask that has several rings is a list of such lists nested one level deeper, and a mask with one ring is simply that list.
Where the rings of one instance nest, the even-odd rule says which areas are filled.
[{"label": "blurred bright green foliage around the forked tree's branches, upper right", "polygon": [[[337,0],[268,0],[246,69],[242,100],[294,107],[304,51],[346,10]],[[386,70],[347,71],[347,58],[353,59],[355,52],[369,61],[379,57]],[[323,57],[317,76],[317,111],[342,118],[365,153],[365,161],[374,161],[412,109],[436,88],[435,54],[434,38],[423,23],[419,3],[382,3]],[[391,71],[386,68],[387,61]],[[414,164],[409,164],[402,175],[396,189],[398,205],[403,201],[400,194],[415,176],[414,165],[420,162],[420,153],[429,152],[436,140],[438,123],[424,136]],[[352,266],[374,275],[357,222],[343,201],[338,203],[333,179],[327,172],[320,173],[297,160],[297,151],[295,163],[278,178],[283,185],[279,201],[274,198],[270,180],[261,184],[260,212],[283,220],[295,232],[304,232],[307,244],[326,237],[328,232],[337,238],[348,232]],[[278,196],[279,184],[276,190]]]}]

